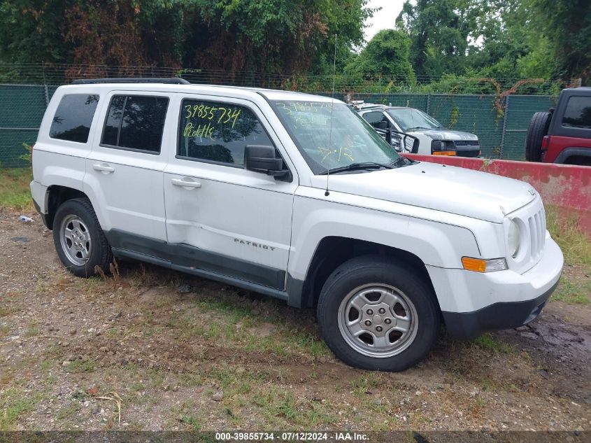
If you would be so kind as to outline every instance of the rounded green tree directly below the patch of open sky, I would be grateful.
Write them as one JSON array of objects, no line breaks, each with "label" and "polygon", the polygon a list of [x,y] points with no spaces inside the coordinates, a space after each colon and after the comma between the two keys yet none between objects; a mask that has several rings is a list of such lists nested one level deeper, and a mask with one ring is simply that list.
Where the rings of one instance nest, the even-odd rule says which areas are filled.
[{"label": "rounded green tree directly below the patch of open sky", "polygon": [[346,73],[364,80],[380,78],[413,83],[415,73],[408,59],[408,36],[402,31],[383,29],[373,36],[366,47],[347,66]]}]

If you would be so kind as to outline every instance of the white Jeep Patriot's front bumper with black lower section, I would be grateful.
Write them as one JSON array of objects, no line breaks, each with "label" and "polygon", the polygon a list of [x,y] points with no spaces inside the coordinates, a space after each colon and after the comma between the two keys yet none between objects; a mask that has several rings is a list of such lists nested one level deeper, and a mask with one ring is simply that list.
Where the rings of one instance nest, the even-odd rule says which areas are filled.
[{"label": "white Jeep Patriot's front bumper with black lower section", "polygon": [[[562,251],[546,234],[542,258],[523,274],[510,269],[484,274],[448,269],[452,271],[447,280],[453,300],[440,300],[440,305],[449,334],[473,339],[483,332],[518,328],[534,320],[558,286],[563,264]],[[437,286],[434,281],[439,297]]]}]

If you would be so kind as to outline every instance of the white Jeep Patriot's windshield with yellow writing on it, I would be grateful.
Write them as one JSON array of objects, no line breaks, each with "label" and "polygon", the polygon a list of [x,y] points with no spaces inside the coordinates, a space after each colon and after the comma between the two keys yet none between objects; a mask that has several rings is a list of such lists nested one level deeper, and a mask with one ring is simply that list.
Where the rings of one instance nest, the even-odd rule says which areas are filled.
[{"label": "white Jeep Patriot's windshield with yellow writing on it", "polygon": [[350,164],[392,164],[398,153],[373,127],[343,103],[271,101],[301,154],[314,172]]}]

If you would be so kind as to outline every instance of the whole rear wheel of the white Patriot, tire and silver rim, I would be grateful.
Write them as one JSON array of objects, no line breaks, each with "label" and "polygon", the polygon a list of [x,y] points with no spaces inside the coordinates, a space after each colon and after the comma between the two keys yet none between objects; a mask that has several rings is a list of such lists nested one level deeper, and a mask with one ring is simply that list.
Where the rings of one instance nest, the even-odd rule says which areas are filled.
[{"label": "whole rear wheel of the white Patriot, tire and silver rim", "polygon": [[96,275],[96,266],[108,272],[113,260],[111,246],[86,198],[67,200],[59,206],[53,220],[53,243],[59,260],[79,277]]}]

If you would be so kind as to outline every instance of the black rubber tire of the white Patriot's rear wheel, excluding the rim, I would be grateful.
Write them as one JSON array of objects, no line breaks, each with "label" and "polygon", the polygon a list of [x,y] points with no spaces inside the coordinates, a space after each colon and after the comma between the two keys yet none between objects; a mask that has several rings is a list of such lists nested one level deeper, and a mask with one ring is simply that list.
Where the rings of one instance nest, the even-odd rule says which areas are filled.
[{"label": "black rubber tire of the white Patriot's rear wheel, excluding the rim", "polygon": [[[71,253],[64,251],[64,246],[67,246],[67,244],[62,246],[61,236],[62,230],[64,230],[62,223],[67,223],[67,220],[72,218],[82,222],[80,225],[85,227],[83,231],[87,231],[88,238],[90,239],[90,242],[87,243],[89,246],[88,257],[80,257],[79,259],[80,261],[83,261],[82,264],[73,262],[73,260],[69,258],[69,254]],[[105,234],[101,229],[101,225],[99,224],[99,220],[97,219],[97,214],[94,213],[94,209],[92,209],[92,204],[89,199],[71,199],[59,206],[53,220],[53,243],[55,244],[55,251],[57,251],[59,260],[62,260],[64,266],[66,266],[72,274],[79,277],[94,276],[97,275],[97,272],[94,271],[96,266],[100,267],[106,274],[108,274],[109,265],[113,261],[113,253],[111,252],[111,246],[108,244]]]}]

